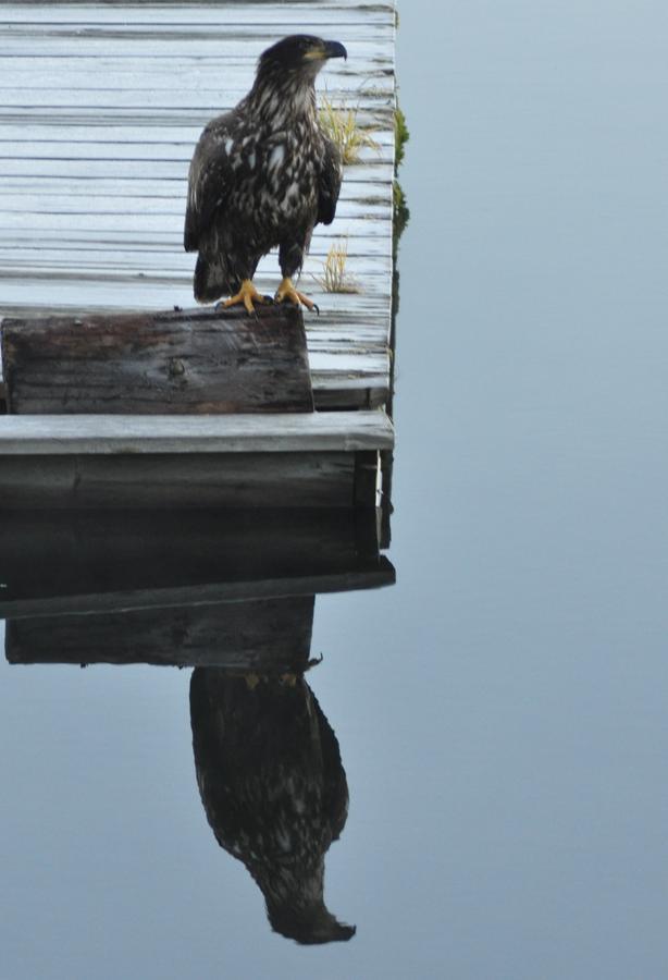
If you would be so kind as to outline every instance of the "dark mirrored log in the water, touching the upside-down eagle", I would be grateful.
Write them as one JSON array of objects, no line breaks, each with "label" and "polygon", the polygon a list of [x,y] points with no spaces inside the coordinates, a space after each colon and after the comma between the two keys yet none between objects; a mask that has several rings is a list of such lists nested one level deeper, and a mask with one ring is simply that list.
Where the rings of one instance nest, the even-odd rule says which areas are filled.
[{"label": "dark mirrored log in the water, touching the upside-down eagle", "polygon": [[312,596],[212,607],[8,620],[10,663],[152,663],[304,670]]}]

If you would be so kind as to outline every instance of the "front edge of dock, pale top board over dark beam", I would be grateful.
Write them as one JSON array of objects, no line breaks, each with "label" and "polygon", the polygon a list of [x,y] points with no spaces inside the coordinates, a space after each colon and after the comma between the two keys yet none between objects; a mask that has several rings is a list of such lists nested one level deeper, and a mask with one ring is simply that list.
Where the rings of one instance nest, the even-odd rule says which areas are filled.
[{"label": "front edge of dock, pale top board over dark beam", "polygon": [[382,412],[8,415],[0,489],[5,507],[374,507],[368,454],[393,441]]}]

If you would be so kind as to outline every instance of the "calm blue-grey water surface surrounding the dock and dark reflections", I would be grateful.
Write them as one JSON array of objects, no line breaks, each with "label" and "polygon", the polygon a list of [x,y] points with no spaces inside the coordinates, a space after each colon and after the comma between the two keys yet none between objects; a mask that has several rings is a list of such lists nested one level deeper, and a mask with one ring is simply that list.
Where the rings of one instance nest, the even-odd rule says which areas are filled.
[{"label": "calm blue-grey water surface surrounding the dock and dark reflections", "polygon": [[668,12],[400,14],[398,584],[319,597],[308,674],[357,934],[215,843],[189,670],[3,662],[2,978],[668,972]]}]

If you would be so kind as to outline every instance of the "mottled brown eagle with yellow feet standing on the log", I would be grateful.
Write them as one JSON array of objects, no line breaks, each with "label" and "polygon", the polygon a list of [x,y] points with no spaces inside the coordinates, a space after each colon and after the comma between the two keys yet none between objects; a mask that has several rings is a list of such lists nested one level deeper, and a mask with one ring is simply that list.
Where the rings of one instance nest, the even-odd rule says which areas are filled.
[{"label": "mottled brown eagle with yellow feet standing on the log", "polygon": [[255,84],[231,112],[212,120],[190,163],[184,234],[198,252],[195,298],[232,293],[223,305],[263,303],[253,283],[259,260],[279,247],[277,302],[314,304],[292,283],[313,226],[334,219],[341,154],[318,124],[316,75],[338,41],[296,34],[260,57]]}]

